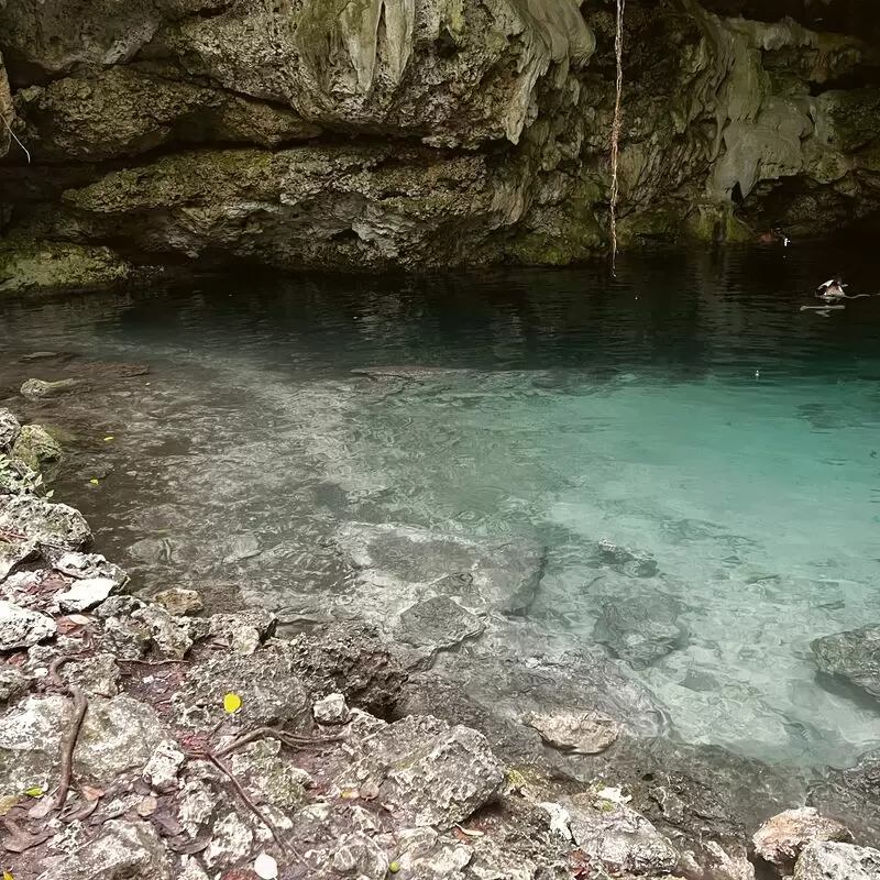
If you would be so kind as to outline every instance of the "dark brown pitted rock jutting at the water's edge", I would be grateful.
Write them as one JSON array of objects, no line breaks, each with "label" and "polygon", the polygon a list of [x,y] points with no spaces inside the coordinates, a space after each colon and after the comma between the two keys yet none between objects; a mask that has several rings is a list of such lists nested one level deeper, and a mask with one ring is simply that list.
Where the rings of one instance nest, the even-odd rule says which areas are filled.
[{"label": "dark brown pitted rock jutting at the water's edge", "polygon": [[341,693],[350,705],[387,714],[400,696],[407,674],[363,624],[331,624],[320,634],[290,640],[294,670],[316,694]]}]

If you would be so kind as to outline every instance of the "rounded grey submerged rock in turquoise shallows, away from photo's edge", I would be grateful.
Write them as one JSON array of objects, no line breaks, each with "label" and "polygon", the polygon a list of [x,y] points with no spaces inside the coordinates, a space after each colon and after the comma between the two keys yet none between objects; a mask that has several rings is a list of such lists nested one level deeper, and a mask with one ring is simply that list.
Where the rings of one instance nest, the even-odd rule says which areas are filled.
[{"label": "rounded grey submerged rock in turquoise shallows, away from photo's edge", "polygon": [[642,669],[681,647],[685,631],[679,613],[675,602],[657,595],[607,600],[593,637],[634,669]]}]

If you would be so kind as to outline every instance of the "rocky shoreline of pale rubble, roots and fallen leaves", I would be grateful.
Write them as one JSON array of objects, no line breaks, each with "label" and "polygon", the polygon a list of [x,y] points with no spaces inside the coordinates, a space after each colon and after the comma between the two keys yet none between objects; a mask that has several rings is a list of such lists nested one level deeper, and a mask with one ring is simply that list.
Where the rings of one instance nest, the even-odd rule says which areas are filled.
[{"label": "rocky shoreline of pale rubble, roots and fallen leaves", "polygon": [[[387,626],[376,606],[375,620],[294,635],[263,609],[206,614],[191,590],[132,595],[46,490],[61,455],[0,410],[0,824],[14,880],[880,877],[870,756],[809,785],[631,729],[614,706],[635,697],[603,693],[625,684],[595,658],[512,659],[509,681],[483,682],[455,651],[425,662],[482,626],[437,584]],[[382,586],[371,552],[404,538],[425,543],[349,528],[366,595]],[[482,595],[516,612],[516,590]],[[816,646],[823,669],[840,674],[871,631]],[[869,673],[862,662],[854,680]],[[504,710],[514,698],[528,726]]]}]

